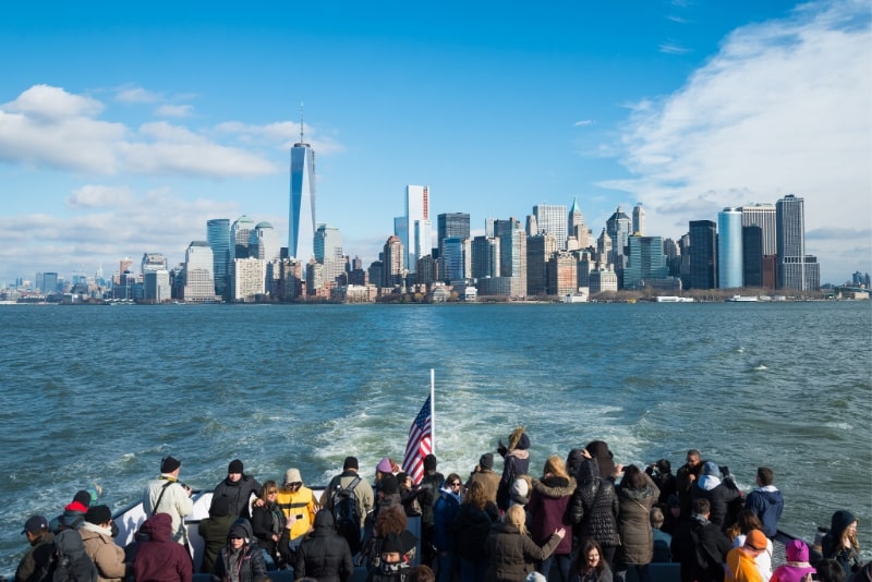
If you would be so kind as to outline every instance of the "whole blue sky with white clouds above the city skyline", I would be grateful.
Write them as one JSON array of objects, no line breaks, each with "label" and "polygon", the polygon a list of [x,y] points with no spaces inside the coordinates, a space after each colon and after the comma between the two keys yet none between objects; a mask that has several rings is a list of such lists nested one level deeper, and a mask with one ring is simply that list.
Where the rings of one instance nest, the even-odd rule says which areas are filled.
[{"label": "whole blue sky with white clouds above the city skyline", "polygon": [[14,2],[0,62],[0,283],[175,265],[210,218],[287,244],[301,120],[365,266],[423,184],[473,234],[578,199],[678,239],[795,194],[821,281],[872,271],[868,1]]}]

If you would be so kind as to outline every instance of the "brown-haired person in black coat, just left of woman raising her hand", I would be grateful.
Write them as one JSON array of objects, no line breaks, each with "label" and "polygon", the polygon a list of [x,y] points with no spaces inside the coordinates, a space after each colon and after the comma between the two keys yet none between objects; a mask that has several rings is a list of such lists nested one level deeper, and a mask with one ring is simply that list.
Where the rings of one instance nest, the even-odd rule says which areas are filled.
[{"label": "brown-haired person in black coat, just left of woman raising her hand", "polygon": [[460,582],[484,580],[487,572],[485,542],[491,528],[499,520],[499,510],[491,499],[486,485],[473,481],[451,521],[457,556],[460,558]]}]

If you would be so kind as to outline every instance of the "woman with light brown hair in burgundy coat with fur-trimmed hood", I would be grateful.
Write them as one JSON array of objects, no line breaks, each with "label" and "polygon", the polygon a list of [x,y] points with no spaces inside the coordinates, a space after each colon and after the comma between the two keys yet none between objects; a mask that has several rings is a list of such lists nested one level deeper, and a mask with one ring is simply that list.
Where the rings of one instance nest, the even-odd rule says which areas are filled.
[{"label": "woman with light brown hair in burgundy coat with fur-trimmed hood", "polygon": [[[576,493],[576,477],[566,472],[564,460],[552,454],[542,469],[542,478],[533,480],[533,492],[526,509],[530,513],[530,535],[538,545],[547,542],[554,530],[570,525],[566,520],[567,507]],[[536,571],[548,578],[552,565],[556,563],[562,582],[569,582],[572,536],[567,535],[550,556],[536,566]]]}]

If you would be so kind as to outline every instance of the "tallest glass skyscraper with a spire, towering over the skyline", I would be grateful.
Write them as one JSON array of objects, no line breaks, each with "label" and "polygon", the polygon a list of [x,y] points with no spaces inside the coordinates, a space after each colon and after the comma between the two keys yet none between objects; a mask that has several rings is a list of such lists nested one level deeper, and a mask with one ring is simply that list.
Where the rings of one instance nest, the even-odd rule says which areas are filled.
[{"label": "tallest glass skyscraper with a spire, towering over the skyline", "polygon": [[288,213],[288,256],[306,263],[315,244],[315,151],[303,138],[291,148],[291,204]]}]

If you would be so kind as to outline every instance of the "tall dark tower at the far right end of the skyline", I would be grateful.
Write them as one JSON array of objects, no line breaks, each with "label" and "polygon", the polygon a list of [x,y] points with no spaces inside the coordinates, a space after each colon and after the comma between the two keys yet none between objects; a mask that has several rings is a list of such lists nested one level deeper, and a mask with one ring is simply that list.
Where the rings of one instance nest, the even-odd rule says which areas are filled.
[{"label": "tall dark tower at the far right end of the skyline", "polygon": [[821,287],[818,258],[806,255],[806,203],[788,194],[775,203],[778,289],[812,291]]}]

